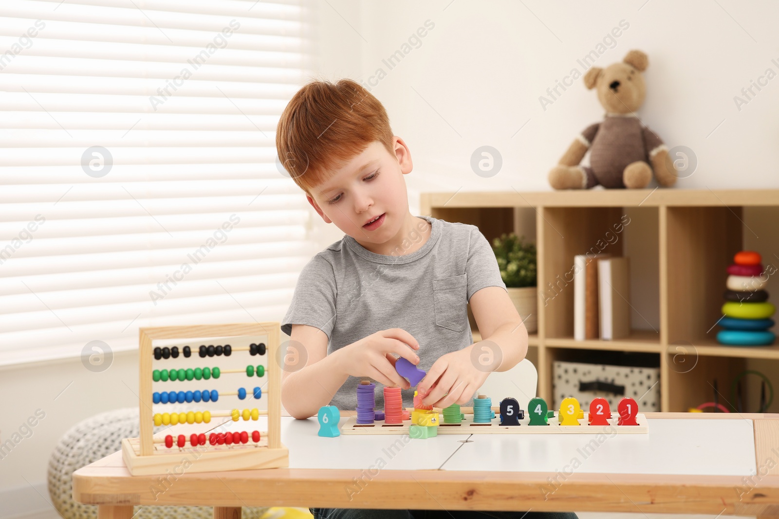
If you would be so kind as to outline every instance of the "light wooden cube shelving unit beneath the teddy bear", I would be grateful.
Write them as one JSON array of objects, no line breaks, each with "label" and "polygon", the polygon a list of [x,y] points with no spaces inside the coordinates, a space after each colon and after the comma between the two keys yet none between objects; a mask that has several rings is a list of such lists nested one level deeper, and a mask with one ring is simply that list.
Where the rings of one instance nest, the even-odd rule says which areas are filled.
[{"label": "light wooden cube shelving unit beneath the teddy bear", "polygon": [[[587,351],[594,363],[606,351],[656,356],[664,412],[710,402],[714,380],[719,401],[728,405],[731,380],[746,369],[779,379],[779,345],[723,346],[715,340],[733,254],[759,251],[764,265],[779,268],[777,189],[425,193],[420,214],[478,226],[490,241],[502,233],[534,234],[538,334],[530,335],[528,358],[538,367],[539,395],[548,402],[555,360]],[[573,278],[566,273],[575,254],[590,250],[631,261],[633,331],[619,341],[573,339]],[[779,282],[770,278],[770,300],[779,304],[772,286]],[[474,330],[474,340],[480,338]],[[756,391],[746,393],[747,411],[756,409],[756,398]],[[770,410],[779,410],[776,402]]]}]

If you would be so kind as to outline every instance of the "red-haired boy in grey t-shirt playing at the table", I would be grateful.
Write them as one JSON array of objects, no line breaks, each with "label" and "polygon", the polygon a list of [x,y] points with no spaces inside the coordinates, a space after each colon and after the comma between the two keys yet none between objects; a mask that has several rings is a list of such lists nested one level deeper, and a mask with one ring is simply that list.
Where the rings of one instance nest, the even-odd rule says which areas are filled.
[{"label": "red-haired boy in grey t-shirt playing at the table", "polygon": [[[354,410],[361,377],[378,383],[377,409],[381,384],[401,387],[404,408],[411,407],[414,389],[393,355],[428,372],[417,389],[437,408],[472,405],[489,373],[524,358],[527,330],[492,248],[475,226],[411,215],[403,177],[411,173],[411,153],[372,94],[350,79],[308,83],[284,109],[276,146],[315,211],[345,233],[305,265],[281,324],[299,349],[298,363],[285,360],[282,373],[282,404],[291,416],[315,416],[323,405]],[[469,300],[485,339],[476,345]],[[420,510],[312,513],[436,517]]]}]

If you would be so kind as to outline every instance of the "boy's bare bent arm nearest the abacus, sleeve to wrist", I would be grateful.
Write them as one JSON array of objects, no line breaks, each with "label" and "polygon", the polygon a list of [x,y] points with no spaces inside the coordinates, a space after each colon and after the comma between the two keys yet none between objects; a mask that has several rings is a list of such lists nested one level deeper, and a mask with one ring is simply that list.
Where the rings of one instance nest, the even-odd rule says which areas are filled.
[{"label": "boy's bare bent arm nearest the abacus, sleeve to wrist", "polygon": [[281,373],[281,405],[297,419],[315,416],[349,377],[327,355],[327,335],[307,324],[293,324]]}]

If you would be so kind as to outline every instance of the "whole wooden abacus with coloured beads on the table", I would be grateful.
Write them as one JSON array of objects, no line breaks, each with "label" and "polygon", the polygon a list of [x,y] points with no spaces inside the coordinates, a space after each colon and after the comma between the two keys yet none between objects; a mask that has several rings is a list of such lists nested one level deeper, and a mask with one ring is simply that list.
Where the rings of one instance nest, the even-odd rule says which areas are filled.
[{"label": "whole wooden abacus with coloured beads on the table", "polygon": [[[153,413],[152,405],[159,402],[159,393],[153,393],[153,377],[157,378],[159,372],[153,373],[152,359],[160,358],[159,352],[155,355],[152,347],[154,340],[160,339],[188,339],[188,338],[228,338],[228,337],[266,337],[267,347],[265,353],[267,356],[266,368],[263,370],[267,374],[268,387],[266,391],[259,391],[259,387],[253,392],[254,398],[260,398],[262,395],[267,398],[267,411],[258,409],[244,409],[241,413],[238,409],[231,412],[182,412],[182,413],[164,413],[164,415]],[[277,351],[280,341],[280,323],[263,322],[251,324],[203,324],[192,326],[165,326],[155,328],[139,329],[139,419],[140,436],[139,438],[125,438],[122,440],[122,458],[125,465],[132,475],[155,475],[174,472],[216,472],[224,470],[249,470],[256,468],[278,468],[289,466],[289,451],[287,447],[281,444],[281,377],[280,366],[277,365]],[[252,345],[253,346],[253,345]],[[165,359],[170,356],[170,349],[167,349]],[[243,352],[249,348],[238,347],[228,350],[230,352]],[[178,349],[176,350],[178,356]],[[252,352],[254,355],[255,352]],[[189,348],[185,350],[185,356],[191,355]],[[213,356],[213,350],[209,353]],[[174,356],[175,357],[175,356]],[[249,373],[252,368],[252,373]],[[200,370],[200,369],[199,369]],[[204,368],[200,370],[201,377],[203,372],[209,370]],[[178,370],[192,371],[192,370]],[[178,375],[177,371],[177,375]],[[253,366],[247,366],[247,370],[221,370],[221,373],[244,372],[252,376]],[[166,370],[167,373],[167,370]],[[172,373],[172,370],[171,370]],[[209,370],[209,373],[211,371]],[[220,370],[216,370],[215,377],[219,377]],[[263,373],[263,374],[264,374]],[[186,373],[186,380],[192,380]],[[258,376],[262,376],[258,369]],[[203,378],[209,378],[203,377]],[[164,380],[167,380],[167,375]],[[176,380],[171,377],[171,380]],[[182,379],[184,380],[184,379]],[[200,377],[198,377],[200,380]],[[245,398],[245,390],[241,390]],[[192,393],[192,391],[187,391]],[[200,391],[196,391],[200,393]],[[209,391],[203,391],[206,395]],[[217,393],[217,391],[211,391]],[[167,394],[166,394],[167,395]],[[236,392],[223,392],[222,395],[238,395]],[[249,393],[252,395],[252,393]],[[209,397],[203,398],[203,402],[209,402]],[[196,399],[199,402],[200,397]],[[214,398],[216,400],[216,398]],[[157,402],[155,402],[157,401]],[[192,402],[191,395],[187,395],[186,402]],[[182,402],[182,400],[178,400]],[[163,402],[166,403],[166,402]],[[171,401],[172,403],[172,401]],[[197,416],[197,419],[195,415]],[[206,419],[203,419],[203,417]],[[248,420],[258,419],[259,416],[267,416],[267,431],[260,433],[210,433],[210,441],[206,441],[206,434],[191,435],[191,445],[188,447],[184,435],[178,435],[178,442],[173,446],[172,437],[165,439],[153,437],[153,426],[155,423],[175,425],[179,422],[186,423],[208,423],[211,416],[230,416],[237,421],[243,417]],[[180,418],[179,418],[180,417]],[[260,441],[263,436],[263,441]],[[250,439],[251,438],[251,439]],[[227,440],[227,441],[225,441]],[[171,448],[172,447],[172,448]],[[182,465],[186,465],[183,467]]]}]

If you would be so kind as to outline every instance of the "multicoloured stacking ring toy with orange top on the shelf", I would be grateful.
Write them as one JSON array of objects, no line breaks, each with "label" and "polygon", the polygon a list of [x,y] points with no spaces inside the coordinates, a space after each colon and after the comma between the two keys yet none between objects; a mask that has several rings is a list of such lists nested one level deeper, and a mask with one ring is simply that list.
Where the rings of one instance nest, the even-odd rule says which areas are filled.
[{"label": "multicoloured stacking ring toy with orange top on the shelf", "polygon": [[760,254],[741,251],[735,254],[734,263],[728,267],[728,289],[722,305],[722,317],[717,324],[717,342],[735,346],[763,346],[774,342],[774,326],[770,319],[776,308],[768,302],[763,289],[767,275],[763,272]]}]

